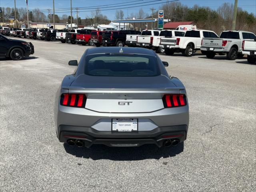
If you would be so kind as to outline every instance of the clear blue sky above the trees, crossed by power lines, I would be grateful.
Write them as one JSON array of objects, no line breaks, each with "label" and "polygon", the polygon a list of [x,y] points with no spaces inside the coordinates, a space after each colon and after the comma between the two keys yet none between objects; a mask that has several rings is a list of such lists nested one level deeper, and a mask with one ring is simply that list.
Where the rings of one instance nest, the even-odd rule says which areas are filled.
[{"label": "clear blue sky above the trees, crossed by power lines", "polygon": [[[134,6],[139,7],[132,7],[132,8],[122,8],[124,11],[124,17],[127,15],[130,15],[132,12],[138,12],[140,8],[143,8],[144,12],[147,12],[149,15],[151,15],[150,8],[154,7],[156,10],[158,10],[159,6],[161,4],[158,4],[156,0],[72,0],[72,7],[92,7],[92,6],[102,6],[102,5],[109,5],[109,6],[116,6],[112,8],[122,8],[122,5],[127,5],[126,7],[130,7],[133,4]],[[153,2],[154,1],[154,2]],[[171,0],[159,0],[159,2],[166,2]],[[53,0],[28,0],[28,9],[32,10],[34,8],[39,8],[40,10],[46,10],[46,9],[52,9]],[[154,5],[148,5],[143,6],[144,4],[136,4],[145,2],[144,4],[154,4]],[[209,6],[212,9],[217,9],[221,4],[224,2],[229,2],[234,4],[234,0],[180,0],[184,5],[187,5],[189,7],[194,6],[195,4],[198,4],[199,6]],[[118,4],[119,3],[119,4]],[[123,4],[120,4],[123,3]],[[136,5],[135,5],[136,4]],[[14,7],[14,0],[0,0],[0,7]],[[26,0],[16,0],[16,7],[26,7]],[[125,7],[125,6],[123,6]],[[256,15],[256,0],[238,0],[238,7],[241,7],[243,10],[247,10],[249,13],[253,13]],[[58,8],[70,8],[70,0],[55,0],[55,9]],[[94,7],[95,8],[95,7]],[[111,8],[102,8],[102,9],[111,9]],[[83,11],[83,12],[82,12]],[[84,12],[89,11],[89,12]],[[57,11],[56,11],[57,12]],[[70,15],[70,12],[67,11],[59,11],[59,12],[66,12],[66,13],[56,13],[59,16],[62,14]],[[105,10],[102,11],[102,14],[106,15],[108,19],[113,20],[115,18],[115,12],[116,10]],[[86,16],[90,16],[91,12],[90,10],[81,10],[79,12],[79,17],[82,19]],[[75,18],[75,13],[73,14],[73,17]]]}]

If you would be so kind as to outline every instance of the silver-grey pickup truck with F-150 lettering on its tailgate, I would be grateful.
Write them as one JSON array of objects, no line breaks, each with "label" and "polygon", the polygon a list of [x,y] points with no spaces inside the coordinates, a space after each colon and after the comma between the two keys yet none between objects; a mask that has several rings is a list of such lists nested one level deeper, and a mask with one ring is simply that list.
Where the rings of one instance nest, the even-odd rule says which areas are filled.
[{"label": "silver-grey pickup truck with F-150 lettering on its tailgate", "polygon": [[242,44],[245,39],[256,39],[255,34],[247,31],[223,31],[220,38],[203,38],[201,51],[208,58],[214,58],[216,53],[227,54],[229,60],[243,57]]}]

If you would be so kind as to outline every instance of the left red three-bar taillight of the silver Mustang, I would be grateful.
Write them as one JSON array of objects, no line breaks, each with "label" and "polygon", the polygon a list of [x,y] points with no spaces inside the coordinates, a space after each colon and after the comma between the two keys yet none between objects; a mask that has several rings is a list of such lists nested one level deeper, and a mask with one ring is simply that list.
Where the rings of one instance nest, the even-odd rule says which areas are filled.
[{"label": "left red three-bar taillight of the silver Mustang", "polygon": [[60,96],[60,104],[69,107],[84,107],[86,103],[86,96],[84,94],[67,94]]}]

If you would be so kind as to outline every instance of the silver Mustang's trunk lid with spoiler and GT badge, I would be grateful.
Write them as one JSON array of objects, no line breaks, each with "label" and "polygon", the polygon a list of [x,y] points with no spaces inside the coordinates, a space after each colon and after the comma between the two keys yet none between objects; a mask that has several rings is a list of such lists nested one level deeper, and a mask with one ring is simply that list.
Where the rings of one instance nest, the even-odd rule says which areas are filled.
[{"label": "silver Mustang's trunk lid with spoiler and GT badge", "polygon": [[[138,83],[139,82],[139,83]],[[164,94],[180,94],[166,76],[104,77],[80,75],[69,93],[86,94],[86,109],[96,112],[140,113],[164,108]]]}]

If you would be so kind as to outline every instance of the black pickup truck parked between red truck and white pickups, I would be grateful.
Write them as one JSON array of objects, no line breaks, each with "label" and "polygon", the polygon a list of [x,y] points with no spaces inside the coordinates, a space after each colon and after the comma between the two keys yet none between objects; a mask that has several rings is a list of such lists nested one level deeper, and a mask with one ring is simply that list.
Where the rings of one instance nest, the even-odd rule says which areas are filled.
[{"label": "black pickup truck parked between red truck and white pickups", "polygon": [[105,31],[102,35],[102,43],[104,46],[122,47],[128,34],[134,34],[134,30]]}]

